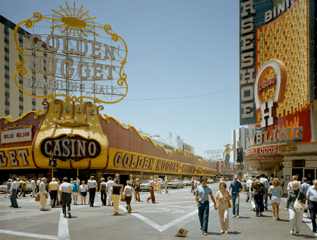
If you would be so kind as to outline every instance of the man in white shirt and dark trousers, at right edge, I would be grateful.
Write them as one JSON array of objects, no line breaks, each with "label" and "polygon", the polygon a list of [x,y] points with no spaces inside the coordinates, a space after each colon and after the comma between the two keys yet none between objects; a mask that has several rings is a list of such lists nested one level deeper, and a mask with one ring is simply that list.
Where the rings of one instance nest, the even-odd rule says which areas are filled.
[{"label": "man in white shirt and dark trousers, at right edge", "polygon": [[317,232],[316,226],[316,213],[317,213],[317,180],[313,181],[313,186],[310,186],[307,192],[304,194],[307,195],[306,200],[306,210],[309,209],[311,224],[312,224],[312,232]]}]

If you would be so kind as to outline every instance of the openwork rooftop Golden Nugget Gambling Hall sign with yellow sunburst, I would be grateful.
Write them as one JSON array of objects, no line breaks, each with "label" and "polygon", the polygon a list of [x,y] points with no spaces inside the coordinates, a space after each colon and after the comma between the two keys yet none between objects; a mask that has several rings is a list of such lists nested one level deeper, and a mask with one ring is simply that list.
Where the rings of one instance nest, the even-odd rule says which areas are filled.
[{"label": "openwork rooftop Golden Nugget Gambling Hall sign with yellow sunburst", "polygon": [[[16,49],[22,59],[16,63],[15,73],[19,89],[32,98],[65,97],[67,102],[90,99],[109,104],[121,101],[128,91],[123,38],[112,32],[110,25],[96,23],[96,17],[88,16],[83,5],[76,8],[75,2],[73,8],[66,3],[52,12],[47,16],[35,12],[35,20],[21,21],[15,28]],[[47,30],[38,33],[37,23]],[[33,28],[34,34],[17,36],[22,25]],[[112,46],[112,41],[118,44]]]}]

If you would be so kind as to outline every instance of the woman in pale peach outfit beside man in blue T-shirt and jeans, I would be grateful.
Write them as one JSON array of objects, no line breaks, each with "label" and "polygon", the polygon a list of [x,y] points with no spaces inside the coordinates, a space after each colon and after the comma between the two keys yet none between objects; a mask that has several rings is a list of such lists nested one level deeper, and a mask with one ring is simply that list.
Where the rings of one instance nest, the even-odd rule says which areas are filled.
[{"label": "woman in pale peach outfit beside man in blue T-shirt and jeans", "polygon": [[225,182],[220,182],[220,190],[216,193],[216,203],[218,205],[218,213],[221,225],[221,233],[228,233],[229,228],[229,201],[232,199]]}]

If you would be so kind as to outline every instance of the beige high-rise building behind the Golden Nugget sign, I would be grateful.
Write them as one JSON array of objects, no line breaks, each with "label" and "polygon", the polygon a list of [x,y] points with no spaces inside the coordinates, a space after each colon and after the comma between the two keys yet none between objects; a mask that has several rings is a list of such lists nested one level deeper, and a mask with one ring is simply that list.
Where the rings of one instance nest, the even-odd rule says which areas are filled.
[{"label": "beige high-rise building behind the Golden Nugget sign", "polygon": [[[0,105],[0,116],[11,115],[12,119],[16,119],[23,113],[27,113],[29,111],[35,111],[37,109],[44,111],[45,109],[45,107],[42,106],[43,99],[28,97],[17,87],[14,81],[14,74],[16,71],[15,64],[17,61],[22,62],[22,56],[15,49],[15,26],[16,25],[13,22],[0,15],[0,35],[4,36],[2,38],[3,40],[0,40],[0,56],[4,56],[0,59],[0,102],[3,103],[4,101],[5,103]],[[17,43],[23,51],[22,55],[24,56],[25,65],[28,69],[30,56],[38,57],[39,52],[37,51],[37,56],[35,56],[35,51],[32,51],[30,47],[28,38],[31,36],[30,33],[21,28],[17,31],[17,33]],[[48,55],[49,53],[43,51],[39,57],[47,57]],[[28,84],[28,79],[35,81],[37,75],[41,75],[41,79],[52,79],[52,77],[47,74],[44,63],[42,64],[44,68],[43,73],[39,73],[34,70],[31,71],[29,69],[26,76],[21,76],[21,71],[19,71],[16,75],[17,84],[19,84],[20,88],[24,89],[30,95],[36,95],[36,89],[25,87],[25,84]],[[41,95],[48,95],[52,90],[42,89],[42,91]]]}]

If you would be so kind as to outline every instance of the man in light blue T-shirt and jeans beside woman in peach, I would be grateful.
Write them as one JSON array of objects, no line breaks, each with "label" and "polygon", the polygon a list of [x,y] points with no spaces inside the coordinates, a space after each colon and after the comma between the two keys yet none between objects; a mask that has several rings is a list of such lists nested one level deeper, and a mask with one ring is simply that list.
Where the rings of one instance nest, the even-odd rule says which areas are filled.
[{"label": "man in light blue T-shirt and jeans beside woman in peach", "polygon": [[197,186],[195,192],[195,198],[198,205],[198,217],[200,221],[200,229],[203,235],[207,235],[208,230],[208,218],[209,218],[209,195],[214,202],[214,207],[217,210],[217,204],[212,190],[207,186],[207,178],[204,176],[201,178],[201,185]]}]

